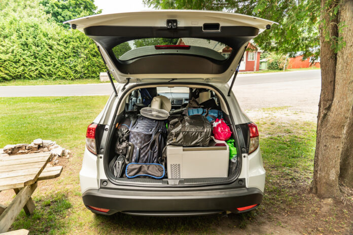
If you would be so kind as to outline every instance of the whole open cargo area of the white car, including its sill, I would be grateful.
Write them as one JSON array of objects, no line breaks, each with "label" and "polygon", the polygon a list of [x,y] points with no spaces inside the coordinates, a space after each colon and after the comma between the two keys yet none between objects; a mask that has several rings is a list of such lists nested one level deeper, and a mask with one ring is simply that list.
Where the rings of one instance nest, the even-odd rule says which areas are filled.
[{"label": "whole open cargo area of the white car, including its sill", "polygon": [[[170,94],[161,92],[161,89],[158,89],[158,92],[150,89],[154,98],[167,97],[163,98],[163,102],[166,103],[166,109],[170,110],[168,110],[168,118],[164,120],[151,119],[141,114],[144,113],[143,108],[156,106],[153,102],[149,105],[143,104],[144,90],[135,89],[129,92],[127,99],[129,102],[122,107],[122,111],[117,114],[114,121],[114,129],[108,141],[110,151],[104,154],[105,174],[113,183],[145,186],[201,186],[225,184],[237,179],[241,169],[241,154],[236,153],[231,158],[229,144],[225,140],[215,138],[210,124],[216,121],[215,116],[210,114],[213,110],[218,111],[219,117],[222,117],[232,133],[230,139],[235,143],[233,149],[238,149],[231,117],[222,110],[219,94],[208,89],[199,89],[202,92],[193,88],[187,89],[189,93],[173,93],[170,90]],[[174,96],[177,98],[173,98]],[[197,99],[194,99],[195,97]],[[183,102],[177,100],[183,100]],[[206,102],[200,102],[202,105],[198,103],[204,100]],[[199,107],[198,110],[190,107],[195,101]],[[197,114],[197,111],[205,113]],[[151,117],[155,118],[155,116]],[[195,120],[202,120],[204,124],[201,121],[197,123]],[[209,128],[210,130],[207,131]],[[123,169],[120,170],[121,174],[117,175],[115,167],[120,164],[116,160],[121,149],[119,143],[121,135],[119,137],[118,134],[122,132],[120,129],[125,129],[123,132],[129,133],[129,137],[126,137],[129,145],[126,147],[126,153],[120,152],[126,162],[121,162]],[[158,133],[163,131],[165,131],[164,140],[160,138],[162,134],[158,136]],[[135,134],[132,135],[134,132],[139,135],[137,137]],[[200,140],[193,139],[200,137]],[[164,145],[158,146],[157,142]],[[152,147],[152,145],[155,146],[154,144],[157,147]],[[146,148],[147,145],[149,145],[148,148]],[[148,173],[149,170],[152,172]],[[131,172],[132,175],[130,175]]]}]

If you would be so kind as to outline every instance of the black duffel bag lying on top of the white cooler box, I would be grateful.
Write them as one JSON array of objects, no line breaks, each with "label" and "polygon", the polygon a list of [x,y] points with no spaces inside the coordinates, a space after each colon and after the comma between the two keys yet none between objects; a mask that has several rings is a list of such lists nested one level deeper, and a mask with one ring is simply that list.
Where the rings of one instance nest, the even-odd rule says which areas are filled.
[{"label": "black duffel bag lying on top of the white cooler box", "polygon": [[181,115],[169,121],[167,143],[178,146],[208,146],[212,125],[203,115]]}]

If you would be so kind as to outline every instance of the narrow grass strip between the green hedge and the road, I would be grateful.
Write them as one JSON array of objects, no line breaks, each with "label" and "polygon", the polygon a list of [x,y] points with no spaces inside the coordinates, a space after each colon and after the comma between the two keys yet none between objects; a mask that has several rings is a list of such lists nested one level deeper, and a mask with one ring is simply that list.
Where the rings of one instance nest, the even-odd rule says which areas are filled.
[{"label": "narrow grass strip between the green hedge and the road", "polygon": [[0,86],[35,86],[35,85],[69,85],[69,84],[92,84],[92,83],[110,83],[100,82],[99,79],[78,79],[78,80],[11,80],[0,82]]}]

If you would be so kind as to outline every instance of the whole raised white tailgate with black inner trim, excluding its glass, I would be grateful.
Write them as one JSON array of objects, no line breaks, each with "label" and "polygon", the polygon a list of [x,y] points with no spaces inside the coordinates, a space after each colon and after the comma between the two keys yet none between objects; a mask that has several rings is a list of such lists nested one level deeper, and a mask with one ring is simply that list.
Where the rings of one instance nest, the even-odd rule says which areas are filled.
[{"label": "whole raised white tailgate with black inner trim, excluding its glass", "polygon": [[[178,27],[168,29],[166,20],[175,19]],[[245,48],[252,38],[275,22],[236,13],[195,10],[163,10],[116,14],[100,14],[70,20],[98,45],[102,57],[119,83],[179,81],[204,81],[227,83],[234,74]],[[219,30],[206,30],[204,23],[219,24]],[[232,48],[229,58],[222,63],[195,55],[160,54],[120,61],[112,52],[113,47],[139,38],[196,37],[217,40]],[[172,51],[172,50],[171,50]],[[191,58],[194,64],[190,64]],[[159,66],[152,65],[158,64]],[[183,69],[173,69],[180,65]],[[146,66],[144,66],[146,65]],[[202,67],[202,65],[204,67]]]}]

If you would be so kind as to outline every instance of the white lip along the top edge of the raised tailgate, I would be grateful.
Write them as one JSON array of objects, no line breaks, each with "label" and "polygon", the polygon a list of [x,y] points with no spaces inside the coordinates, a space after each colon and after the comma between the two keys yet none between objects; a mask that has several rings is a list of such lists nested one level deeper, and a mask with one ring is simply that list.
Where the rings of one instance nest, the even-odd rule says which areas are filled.
[{"label": "white lip along the top edge of the raised tailgate", "polygon": [[[179,19],[178,19],[179,18]],[[200,11],[200,10],[148,10],[139,12],[125,12],[113,14],[98,14],[68,20],[65,23],[76,24],[77,29],[84,31],[90,26],[156,26],[164,27],[166,19],[178,19],[179,27],[203,25],[218,22],[224,26],[254,26],[265,30],[266,25],[273,21],[255,16],[247,16],[230,12]]]}]

